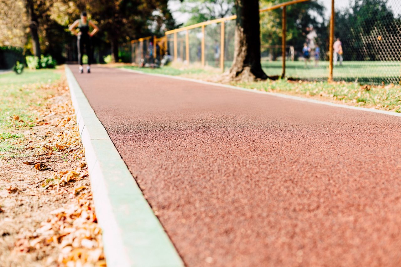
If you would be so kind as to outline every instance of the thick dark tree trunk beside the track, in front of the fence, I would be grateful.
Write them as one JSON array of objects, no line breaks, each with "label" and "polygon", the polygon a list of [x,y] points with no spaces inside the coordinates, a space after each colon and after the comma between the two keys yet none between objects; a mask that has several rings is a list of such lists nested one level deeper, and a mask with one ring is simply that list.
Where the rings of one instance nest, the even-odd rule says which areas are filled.
[{"label": "thick dark tree trunk beside the track, in front of the fence", "polygon": [[231,80],[267,79],[260,63],[260,24],[258,0],[235,0],[234,61],[229,70]]}]

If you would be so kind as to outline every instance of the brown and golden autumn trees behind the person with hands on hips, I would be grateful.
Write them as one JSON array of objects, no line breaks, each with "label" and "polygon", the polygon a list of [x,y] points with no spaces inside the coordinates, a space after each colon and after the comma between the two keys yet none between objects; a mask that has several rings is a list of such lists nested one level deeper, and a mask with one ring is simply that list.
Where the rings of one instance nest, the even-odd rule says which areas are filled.
[{"label": "brown and golden autumn trees behind the person with hands on hips", "polygon": [[111,46],[117,61],[122,43],[154,33],[161,35],[166,28],[176,27],[167,2],[0,0],[0,46],[25,45],[28,54],[51,54],[58,62],[63,62],[67,54],[73,53],[76,40],[68,26],[79,18],[81,11],[86,10],[100,28],[95,45]]}]

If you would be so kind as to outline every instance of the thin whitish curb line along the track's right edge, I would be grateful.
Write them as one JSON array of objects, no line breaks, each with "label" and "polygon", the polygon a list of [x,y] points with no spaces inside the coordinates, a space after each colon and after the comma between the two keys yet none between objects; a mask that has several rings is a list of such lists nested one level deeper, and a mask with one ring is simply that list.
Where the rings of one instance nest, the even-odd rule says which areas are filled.
[{"label": "thin whitish curb line along the track's right edge", "polygon": [[148,73],[148,72],[143,72],[143,71],[140,71],[140,70],[131,70],[129,68],[124,68],[124,67],[116,68],[116,69],[127,71],[127,72],[133,72],[133,73],[137,73],[137,74],[145,74],[145,75],[151,75],[151,76],[171,78],[171,79],[176,79],[176,80],[185,80],[185,81],[188,81],[188,82],[196,82],[196,83],[201,83],[201,84],[219,86],[219,87],[224,87],[224,88],[231,88],[231,89],[241,90],[241,91],[245,91],[245,92],[253,92],[253,93],[257,93],[257,94],[267,94],[267,95],[271,95],[271,96],[277,96],[277,97],[281,97],[281,98],[287,98],[287,99],[298,100],[298,101],[303,101],[303,102],[310,102],[310,103],[314,103],[314,104],[322,104],[322,105],[326,105],[326,106],[334,106],[334,107],[339,107],[339,108],[348,108],[348,109],[353,109],[353,110],[381,113],[381,114],[386,114],[386,115],[390,115],[390,116],[401,117],[401,113],[397,113],[397,112],[393,112],[393,111],[380,110],[380,109],[375,109],[375,108],[363,108],[363,107],[360,107],[360,106],[348,106],[348,105],[345,105],[345,104],[337,104],[337,103],[333,103],[333,102],[326,102],[326,101],[316,100],[316,99],[312,99],[312,98],[306,98],[306,97],[302,97],[302,96],[292,96],[292,95],[289,95],[289,94],[264,92],[264,91],[259,91],[259,90],[253,90],[253,89],[248,89],[248,88],[228,85],[228,84],[221,84],[221,83],[217,83],[217,82],[206,82],[204,80],[197,80],[197,79],[192,79],[192,78],[185,78],[185,77],[172,76],[172,75],[166,75],[166,74],[158,74],[158,73]]}]

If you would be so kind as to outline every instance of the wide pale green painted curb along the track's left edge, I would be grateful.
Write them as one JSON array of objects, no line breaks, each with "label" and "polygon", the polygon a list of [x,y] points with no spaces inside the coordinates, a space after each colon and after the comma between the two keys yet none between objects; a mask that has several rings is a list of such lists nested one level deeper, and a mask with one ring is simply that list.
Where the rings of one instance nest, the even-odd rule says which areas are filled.
[{"label": "wide pale green painted curb along the track's left edge", "polygon": [[67,65],[65,73],[85,148],[107,266],[184,266]]}]

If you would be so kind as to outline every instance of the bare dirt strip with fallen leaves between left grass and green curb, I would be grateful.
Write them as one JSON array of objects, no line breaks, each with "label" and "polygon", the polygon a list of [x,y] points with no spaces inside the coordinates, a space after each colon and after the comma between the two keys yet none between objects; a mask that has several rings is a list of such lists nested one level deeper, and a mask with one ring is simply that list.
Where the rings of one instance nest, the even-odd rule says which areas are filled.
[{"label": "bare dirt strip with fallen leaves between left grass and green curb", "polygon": [[36,92],[47,97],[30,105],[35,126],[16,124],[18,149],[0,154],[0,266],[105,266],[65,77]]}]

